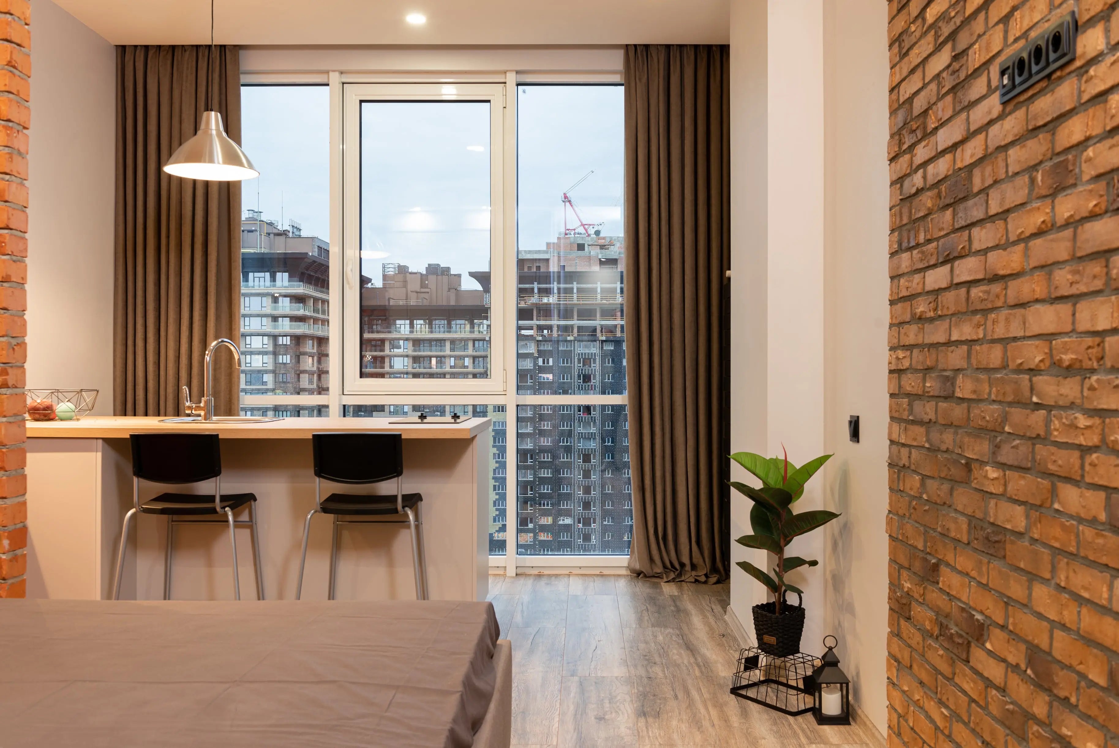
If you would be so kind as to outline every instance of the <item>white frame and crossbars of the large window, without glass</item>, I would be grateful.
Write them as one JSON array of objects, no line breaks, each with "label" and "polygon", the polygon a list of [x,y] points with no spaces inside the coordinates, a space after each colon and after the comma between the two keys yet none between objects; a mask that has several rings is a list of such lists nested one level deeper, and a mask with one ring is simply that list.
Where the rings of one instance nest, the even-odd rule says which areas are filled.
[{"label": "white frame and crossbars of the large window, without glass", "polygon": [[[330,264],[330,356],[333,359],[330,367],[330,381],[328,385],[329,395],[250,395],[242,396],[241,401],[245,406],[272,406],[291,407],[297,409],[300,405],[326,405],[329,404],[331,417],[345,415],[347,405],[504,405],[506,406],[507,429],[516,428],[509,424],[516,424],[518,405],[627,405],[628,398],[624,395],[517,395],[516,377],[510,381],[509,371],[516,371],[517,347],[513,344],[517,330],[517,252],[516,252],[516,216],[517,216],[517,84],[518,83],[554,83],[554,84],[618,84],[621,83],[621,72],[534,72],[517,73],[507,72],[504,74],[491,73],[462,73],[448,74],[444,72],[416,72],[401,70],[379,74],[357,74],[342,73],[340,70],[322,72],[284,72],[284,73],[247,73],[242,74],[242,83],[257,83],[272,85],[295,85],[308,83],[327,83],[330,87],[330,235],[328,242],[331,248],[342,247],[344,262]],[[348,123],[347,117],[357,119],[355,110],[360,96],[373,95],[376,100],[378,93],[386,96],[384,101],[402,101],[394,92],[398,91],[402,84],[410,87],[427,86],[412,92],[421,94],[423,97],[431,96],[430,89],[439,89],[439,98],[442,98],[442,86],[454,85],[459,95],[471,95],[473,89],[468,86],[497,87],[501,89],[502,108],[497,104],[491,104],[491,196],[496,186],[501,186],[500,196],[491,197],[491,215],[495,216],[491,224],[491,295],[490,295],[490,372],[489,380],[365,380],[375,382],[373,387],[350,387],[350,382],[356,378],[357,366],[360,361],[360,343],[356,348],[347,349],[345,345],[347,329],[359,329],[358,326],[347,326],[359,324],[359,296],[346,307],[346,297],[354,301],[352,292],[356,290],[357,273],[360,268],[359,247],[357,237],[352,244],[347,242],[345,226],[347,210],[359,207],[359,198],[354,198],[354,205],[346,201],[347,195],[354,196],[357,192],[357,178],[352,176],[355,169],[347,170],[347,161],[356,159],[358,149],[351,149],[355,153],[347,151],[348,143],[345,140],[346,127],[355,127],[356,122]],[[391,89],[387,87],[392,86]],[[359,93],[360,92],[360,93]],[[472,94],[480,95],[480,94]],[[492,95],[492,94],[491,94]],[[348,103],[347,97],[356,101]],[[504,116],[493,116],[495,113],[502,112]],[[493,129],[499,123],[501,138],[495,140]],[[493,159],[500,154],[501,171],[495,174]],[[354,183],[347,182],[347,173]],[[500,216],[500,220],[496,218]],[[355,224],[356,225],[356,224]],[[497,240],[500,237],[500,240]],[[346,278],[352,281],[352,286],[346,285]],[[347,293],[349,290],[349,293]],[[359,290],[358,294],[360,293]],[[496,293],[500,292],[500,301]],[[339,294],[341,294],[339,296]],[[508,302],[506,302],[508,300]],[[500,305],[499,305],[500,304]],[[498,332],[500,330],[500,332]],[[347,354],[348,350],[348,354]],[[340,366],[339,363],[340,362]],[[346,367],[352,363],[352,370]],[[498,376],[500,372],[500,376]],[[393,381],[394,387],[377,387],[386,381]],[[427,384],[426,388],[414,387],[420,384]],[[459,389],[457,385],[476,382],[480,386],[476,388]],[[449,391],[449,386],[454,386],[453,391]],[[487,447],[488,448],[488,447]],[[585,556],[576,553],[552,555],[552,556],[518,556],[517,555],[517,472],[509,470],[509,465],[517,462],[516,438],[506,439],[506,465],[504,479],[497,476],[498,481],[504,480],[506,484],[506,553],[504,556],[490,556],[489,566],[491,569],[504,569],[507,576],[516,576],[518,568],[521,571],[539,572],[572,572],[572,571],[611,571],[621,570],[629,565],[629,556]],[[489,483],[489,481],[487,481]],[[511,496],[511,500],[509,499]],[[558,532],[558,530],[556,530]],[[571,530],[574,532],[574,529]]]}]

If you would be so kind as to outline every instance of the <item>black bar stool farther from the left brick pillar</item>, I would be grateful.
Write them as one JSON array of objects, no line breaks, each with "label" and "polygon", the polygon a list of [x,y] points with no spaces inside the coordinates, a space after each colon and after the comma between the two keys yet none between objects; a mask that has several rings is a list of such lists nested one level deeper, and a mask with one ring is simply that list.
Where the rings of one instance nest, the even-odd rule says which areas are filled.
[{"label": "black bar stool farther from the left brick pillar", "polygon": [[[404,474],[404,443],[399,434],[311,434],[314,452],[314,509],[303,523],[303,555],[299,560],[299,584],[295,599],[303,591],[303,567],[307,565],[307,537],[316,512],[333,514],[330,539],[330,588],[335,599],[335,567],[338,560],[339,524],[408,524],[412,531],[412,562],[416,575],[416,599],[427,599],[427,559],[423,547],[423,495],[401,493]],[[322,481],[368,484],[396,479],[396,495],[332,493],[322,499]],[[342,517],[399,517],[406,520],[340,520]]]}]

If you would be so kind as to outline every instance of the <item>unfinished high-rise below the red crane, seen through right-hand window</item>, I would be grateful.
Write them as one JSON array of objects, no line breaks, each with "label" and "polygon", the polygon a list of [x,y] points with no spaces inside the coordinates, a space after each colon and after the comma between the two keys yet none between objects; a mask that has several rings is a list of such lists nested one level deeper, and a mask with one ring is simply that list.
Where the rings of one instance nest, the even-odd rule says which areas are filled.
[{"label": "unfinished high-rise below the red crane, seen through right-hand window", "polygon": [[[623,254],[620,236],[561,236],[520,249],[518,395],[626,392]],[[518,551],[628,553],[626,406],[519,405],[515,429]]]}]

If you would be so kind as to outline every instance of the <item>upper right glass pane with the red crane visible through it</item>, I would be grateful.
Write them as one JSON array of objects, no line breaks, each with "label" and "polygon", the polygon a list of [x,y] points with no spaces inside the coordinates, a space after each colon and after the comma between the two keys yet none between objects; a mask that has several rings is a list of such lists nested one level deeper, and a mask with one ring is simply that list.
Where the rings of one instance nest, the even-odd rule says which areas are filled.
[{"label": "upper right glass pane with the red crane visible through it", "polygon": [[624,395],[622,87],[517,92],[517,394]]}]

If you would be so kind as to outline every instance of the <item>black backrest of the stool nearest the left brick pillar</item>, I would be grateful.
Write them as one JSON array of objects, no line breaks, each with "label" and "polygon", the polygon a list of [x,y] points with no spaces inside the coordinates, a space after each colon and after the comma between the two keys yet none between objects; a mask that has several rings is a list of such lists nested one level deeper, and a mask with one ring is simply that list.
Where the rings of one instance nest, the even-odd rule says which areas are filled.
[{"label": "black backrest of the stool nearest the left brick pillar", "polygon": [[217,434],[131,434],[132,475],[151,483],[198,483],[222,474]]}]

